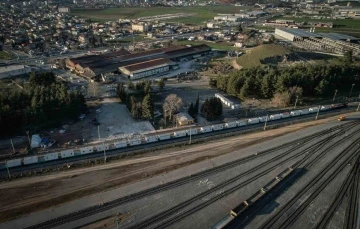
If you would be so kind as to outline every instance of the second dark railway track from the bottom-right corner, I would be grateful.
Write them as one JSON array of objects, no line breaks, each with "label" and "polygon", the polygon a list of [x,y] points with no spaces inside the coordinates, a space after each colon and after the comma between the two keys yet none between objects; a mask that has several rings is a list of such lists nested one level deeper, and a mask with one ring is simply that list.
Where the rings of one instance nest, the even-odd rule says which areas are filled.
[{"label": "second dark railway track from the bottom-right corner", "polygon": [[316,229],[327,228],[335,212],[339,209],[342,201],[346,199],[346,196],[349,194],[350,188],[352,184],[355,182],[356,176],[359,177],[360,175],[359,171],[360,171],[360,162],[358,160],[357,163],[353,166],[350,173],[347,175],[345,181],[342,183],[339,190],[337,191],[336,196],[334,197],[330,207],[326,210],[326,212],[323,214],[324,216],[315,226]]}]

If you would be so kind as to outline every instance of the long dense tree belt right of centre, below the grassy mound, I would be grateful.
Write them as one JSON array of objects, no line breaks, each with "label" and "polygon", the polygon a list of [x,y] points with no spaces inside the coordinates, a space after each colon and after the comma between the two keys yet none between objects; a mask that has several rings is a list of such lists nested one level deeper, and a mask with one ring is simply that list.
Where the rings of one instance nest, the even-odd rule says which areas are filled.
[{"label": "long dense tree belt right of centre, below the grassy mound", "polygon": [[351,64],[263,67],[233,71],[210,80],[210,85],[229,95],[272,98],[291,87],[300,87],[309,96],[328,96],[334,90],[349,90],[359,82],[360,67]]}]

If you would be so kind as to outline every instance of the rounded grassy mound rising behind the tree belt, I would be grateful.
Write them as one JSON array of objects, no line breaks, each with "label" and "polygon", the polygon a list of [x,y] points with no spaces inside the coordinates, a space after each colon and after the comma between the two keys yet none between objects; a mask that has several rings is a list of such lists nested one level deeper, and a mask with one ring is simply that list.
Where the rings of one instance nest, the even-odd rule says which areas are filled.
[{"label": "rounded grassy mound rising behind the tree belt", "polygon": [[280,45],[261,45],[253,48],[250,53],[240,56],[236,62],[244,67],[251,68],[261,65],[261,60],[272,56],[282,56],[291,51]]}]

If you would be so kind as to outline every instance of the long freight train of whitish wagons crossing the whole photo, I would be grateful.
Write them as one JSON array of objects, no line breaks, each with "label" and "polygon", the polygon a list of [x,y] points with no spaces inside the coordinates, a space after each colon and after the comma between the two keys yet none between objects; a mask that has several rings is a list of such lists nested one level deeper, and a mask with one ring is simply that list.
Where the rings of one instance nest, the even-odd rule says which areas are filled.
[{"label": "long freight train of whitish wagons crossing the whole photo", "polygon": [[60,152],[54,152],[54,153],[47,153],[41,156],[31,156],[31,157],[24,157],[24,158],[18,158],[18,159],[12,159],[6,161],[5,165],[1,166],[0,168],[11,168],[11,167],[17,167],[22,165],[30,165],[30,164],[36,164],[36,163],[42,163],[47,161],[53,161],[58,160],[62,158],[69,158],[69,157],[76,157],[84,154],[90,154],[95,152],[102,152],[104,150],[115,150],[115,149],[121,149],[126,147],[132,147],[136,145],[142,145],[142,144],[149,144],[153,142],[158,141],[166,141],[169,139],[176,139],[176,138],[182,138],[187,137],[190,135],[198,135],[198,134],[204,134],[214,131],[220,131],[223,129],[229,129],[229,128],[236,128],[236,127],[243,127],[243,126],[249,126],[253,124],[263,123],[263,122],[271,122],[279,119],[287,119],[295,116],[300,115],[308,115],[311,113],[317,113],[322,111],[328,111],[333,109],[339,109],[347,107],[346,103],[339,103],[339,104],[332,104],[332,105],[324,105],[324,106],[318,106],[318,107],[310,107],[302,110],[294,110],[291,112],[283,112],[279,114],[272,114],[270,116],[261,116],[261,117],[255,117],[255,118],[249,118],[249,119],[242,119],[238,121],[233,122],[227,122],[223,124],[215,124],[215,125],[209,125],[209,126],[202,126],[202,127],[193,127],[187,130],[179,130],[175,131],[173,133],[163,133],[163,134],[152,134],[145,136],[144,139],[130,139],[130,140],[123,140],[123,141],[116,141],[112,143],[101,143],[100,145],[94,145],[94,146],[86,146],[79,149],[68,149],[63,150]]}]

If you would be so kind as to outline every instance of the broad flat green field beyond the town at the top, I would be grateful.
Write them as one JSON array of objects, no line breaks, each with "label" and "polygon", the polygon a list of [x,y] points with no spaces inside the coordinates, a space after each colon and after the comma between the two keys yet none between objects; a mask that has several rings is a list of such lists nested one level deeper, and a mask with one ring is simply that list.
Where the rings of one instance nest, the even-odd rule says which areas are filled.
[{"label": "broad flat green field beyond the town at the top", "polygon": [[105,10],[73,9],[71,14],[90,18],[95,21],[118,20],[120,18],[134,19],[171,13],[194,13],[192,17],[166,19],[168,22],[201,24],[212,19],[219,13],[239,13],[239,10],[249,7],[235,6],[193,6],[193,7],[152,7],[152,8],[111,8]]}]

